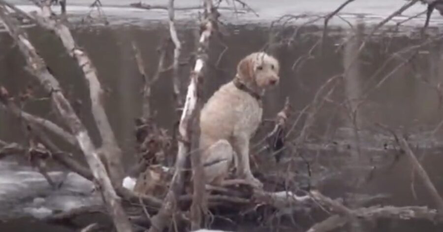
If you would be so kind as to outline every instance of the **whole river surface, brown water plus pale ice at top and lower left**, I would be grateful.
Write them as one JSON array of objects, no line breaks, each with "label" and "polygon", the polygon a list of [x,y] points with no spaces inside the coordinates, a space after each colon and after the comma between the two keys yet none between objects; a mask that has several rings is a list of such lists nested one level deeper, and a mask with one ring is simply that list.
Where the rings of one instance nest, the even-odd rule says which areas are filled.
[{"label": "whole river surface, brown water plus pale ice at top and lower left", "polygon": [[[25,10],[32,10],[27,1],[13,1]],[[75,19],[80,19],[88,11],[84,0],[68,0],[67,10]],[[152,4],[165,4],[165,1],[151,0]],[[190,6],[197,0],[177,1],[178,6]],[[251,13],[233,14],[221,11],[226,26],[222,41],[211,43],[209,72],[204,81],[204,99],[207,99],[222,83],[235,73],[236,63],[246,54],[263,48],[272,41],[269,51],[280,60],[281,83],[270,91],[264,99],[264,118],[272,119],[289,97],[293,122],[302,109],[315,98],[318,89],[329,78],[343,73],[347,75],[337,82],[335,91],[319,108],[316,120],[303,145],[298,150],[285,152],[283,162],[270,168],[273,172],[293,174],[297,172],[325,195],[341,197],[349,202],[366,197],[378,197],[370,203],[361,202],[349,205],[428,205],[435,207],[418,178],[414,178],[406,157],[398,156],[389,128],[409,136],[414,151],[419,156],[437,190],[443,192],[442,130],[439,125],[442,117],[442,93],[439,88],[443,81],[443,47],[441,41],[423,44],[425,38],[417,33],[423,24],[423,17],[411,20],[402,27],[383,28],[380,33],[367,41],[363,52],[353,62],[354,56],[367,28],[379,22],[404,4],[404,0],[356,0],[346,7],[342,19],[334,19],[324,44],[312,49],[320,39],[321,21],[301,27],[304,19],[285,26],[281,23],[270,29],[270,23],[284,14],[321,15],[335,9],[341,0],[250,0],[250,5],[259,17]],[[134,158],[134,118],[141,114],[141,86],[133,58],[131,42],[141,48],[146,69],[153,72],[157,67],[156,49],[161,39],[168,33],[164,10],[145,11],[127,7],[127,0],[102,0],[103,8],[110,24],[88,26],[73,24],[73,34],[93,60],[100,81],[107,91],[105,107],[109,115],[119,145],[125,153],[125,166],[135,162]],[[224,4],[225,6],[228,6]],[[230,5],[232,6],[232,5]],[[404,15],[394,18],[400,22],[408,16],[424,10],[417,4]],[[194,50],[196,11],[178,11],[179,36],[183,42],[182,61],[187,61]],[[439,34],[442,18],[433,15],[430,32]],[[390,25],[393,25],[392,23]],[[59,41],[50,33],[30,27],[28,33],[39,53],[59,78],[71,99],[82,102],[80,117],[92,128],[89,112],[89,97],[78,67],[64,52]],[[270,35],[279,34],[277,37]],[[357,35],[352,37],[352,35]],[[272,37],[272,40],[270,38]],[[0,84],[11,94],[23,91],[27,85],[35,84],[24,70],[24,61],[13,45],[11,38],[0,33]],[[417,53],[400,52],[407,47],[419,46]],[[225,49],[227,48],[227,49]],[[405,62],[408,61],[408,62]],[[404,65],[402,65],[404,64]],[[185,91],[190,66],[182,66],[180,78],[182,91]],[[164,72],[153,89],[152,107],[159,126],[172,129],[175,120],[172,99],[171,72]],[[37,90],[38,93],[38,90]],[[341,104],[347,102],[348,104]],[[348,108],[357,107],[354,101],[365,99],[356,111],[355,124],[349,119]],[[50,105],[45,101],[32,101],[25,110],[57,121]],[[304,120],[304,118],[302,118]],[[0,139],[24,142],[19,122],[0,110]],[[301,124],[302,125],[302,124]],[[301,125],[295,127],[290,138],[298,135]],[[358,127],[358,141],[353,131]],[[384,126],[380,126],[384,125]],[[266,129],[265,129],[266,130]],[[99,142],[96,130],[90,133]],[[259,137],[259,135],[258,135]],[[358,148],[358,149],[357,149]],[[253,152],[257,153],[258,147]],[[272,160],[266,154],[258,154],[258,160]],[[306,163],[309,163],[309,168]],[[51,166],[52,167],[52,166]],[[51,174],[59,178],[63,174],[54,166]],[[288,169],[289,168],[289,169]],[[309,170],[308,170],[309,169]],[[285,170],[285,171],[283,171]],[[81,177],[69,174],[63,188],[50,190],[45,180],[32,168],[26,159],[9,158],[0,161],[0,231],[75,231],[66,225],[53,226],[32,220],[29,216],[44,216],[54,210],[67,210],[79,205],[99,202],[91,195],[91,183]],[[413,184],[411,184],[412,180]],[[359,183],[359,184],[356,184]],[[413,190],[412,190],[413,189]],[[78,222],[84,225],[88,220]],[[91,221],[91,220],[90,220]],[[298,222],[299,227],[290,231],[303,231],[314,221]],[[436,232],[443,230],[421,221],[380,220],[364,225],[359,231],[365,232]],[[239,229],[235,226],[225,226]],[[301,229],[300,229],[301,227]],[[251,229],[243,229],[249,231]],[[258,228],[254,228],[258,230]],[[263,227],[263,231],[273,231]],[[341,230],[343,231],[343,230]]]}]

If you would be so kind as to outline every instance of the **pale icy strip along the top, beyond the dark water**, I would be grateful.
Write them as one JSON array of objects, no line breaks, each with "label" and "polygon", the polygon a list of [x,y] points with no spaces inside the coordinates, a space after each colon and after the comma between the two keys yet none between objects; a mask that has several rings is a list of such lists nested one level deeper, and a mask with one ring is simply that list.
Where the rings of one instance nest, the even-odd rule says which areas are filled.
[{"label": "pale icy strip along the top, beyond the dark water", "polygon": [[[10,0],[12,3],[20,5],[23,9],[35,10],[28,0]],[[92,0],[70,0],[67,5],[67,11],[71,14],[84,14],[90,9],[89,5],[93,2]],[[103,4],[103,10],[108,17],[112,17],[115,22],[128,23],[131,21],[132,24],[138,24],[141,20],[158,20],[158,18],[167,17],[167,12],[164,10],[140,10],[130,7],[130,3],[139,2],[137,0],[101,0]],[[146,4],[152,5],[165,5],[167,0],[149,0],[142,1]],[[201,1],[198,0],[180,0],[176,1],[175,5],[177,7],[189,7],[195,6]],[[235,8],[240,11],[241,6],[239,4],[232,4],[232,1],[221,1],[220,6]],[[335,10],[343,0],[316,0],[313,4],[312,0],[245,0],[259,15],[257,17],[253,13],[233,15],[232,11],[222,10],[222,18],[224,20],[233,21],[235,23],[248,22],[269,22],[271,20],[276,20],[285,14],[325,14]],[[371,1],[353,1],[348,4],[342,11],[341,15],[344,19],[352,21],[355,15],[364,15],[368,22],[378,22],[382,17],[390,15],[395,9],[400,8],[405,4],[404,0],[371,0]],[[406,10],[402,15],[394,17],[394,21],[401,21],[409,16],[420,13],[425,9],[423,4],[415,4],[410,9]],[[189,18],[189,16],[196,16],[196,11],[177,11],[176,17],[178,18]],[[122,20],[122,17],[124,20]],[[412,24],[422,24],[423,15],[412,19],[409,23]],[[337,23],[346,22],[342,19],[333,19]],[[434,12],[434,17],[432,18],[431,24],[441,24],[442,19],[438,16],[438,12]]]}]

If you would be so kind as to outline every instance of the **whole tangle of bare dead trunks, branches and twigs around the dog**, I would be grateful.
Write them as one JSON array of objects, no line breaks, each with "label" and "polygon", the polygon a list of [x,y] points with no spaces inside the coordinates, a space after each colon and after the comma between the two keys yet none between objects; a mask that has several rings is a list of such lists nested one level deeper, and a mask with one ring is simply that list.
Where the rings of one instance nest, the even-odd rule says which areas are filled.
[{"label": "whole tangle of bare dead trunks, branches and twigs around the dog", "polygon": [[[379,218],[396,220],[424,219],[436,223],[442,222],[443,200],[426,170],[416,159],[407,139],[403,134],[399,135],[400,133],[398,132],[393,132],[397,147],[402,152],[406,152],[414,167],[413,171],[417,172],[420,180],[426,186],[430,196],[432,196],[436,203],[437,209],[424,206],[395,207],[378,205],[352,208],[338,199],[330,199],[322,195],[315,189],[315,186],[296,192],[294,186],[287,184],[289,182],[288,179],[290,179],[288,176],[291,176],[289,174],[278,176],[272,181],[267,181],[272,184],[268,184],[269,186],[265,186],[265,189],[259,190],[253,189],[242,180],[235,179],[235,177],[227,180],[224,186],[204,185],[199,151],[195,149],[197,147],[195,137],[198,136],[198,130],[196,129],[198,127],[195,126],[195,123],[196,119],[198,119],[201,105],[201,81],[205,78],[205,68],[208,66],[208,51],[211,49],[212,38],[219,35],[221,25],[219,22],[220,13],[216,4],[219,1],[213,2],[212,0],[205,0],[203,6],[191,7],[192,9],[202,9],[203,14],[199,21],[200,30],[198,46],[195,51],[195,62],[192,64],[193,68],[189,74],[189,80],[187,80],[189,85],[185,96],[183,96],[179,88],[178,71],[182,56],[182,41],[180,41],[174,24],[174,10],[189,9],[175,8],[174,0],[169,0],[169,4],[165,6],[144,5],[142,3],[133,4],[135,7],[148,10],[168,10],[169,37],[164,39],[159,49],[158,69],[156,72],[153,72],[153,75],[147,74],[148,72],[144,66],[145,62],[141,57],[139,48],[137,44],[132,44],[134,57],[145,84],[143,87],[144,105],[143,115],[135,122],[139,162],[131,170],[134,175],[138,176],[138,179],[133,191],[123,188],[122,179],[125,176],[125,172],[121,165],[122,151],[117,145],[114,132],[103,107],[104,91],[100,85],[93,61],[89,58],[87,51],[82,50],[76,44],[67,26],[67,19],[61,17],[61,15],[56,15],[52,11],[52,0],[33,0],[33,2],[39,6],[40,10],[38,13],[27,14],[5,0],[0,0],[0,18],[7,32],[17,43],[20,52],[26,59],[27,70],[32,73],[51,99],[52,106],[62,119],[63,126],[24,112],[18,103],[20,98],[9,93],[5,87],[0,87],[1,109],[20,119],[23,124],[23,130],[29,134],[27,144],[8,143],[0,140],[0,158],[27,154],[30,160],[32,160],[32,164],[37,166],[45,177],[48,175],[45,174],[47,170],[44,168],[44,163],[58,162],[69,170],[77,172],[93,181],[102,196],[105,206],[104,208],[78,208],[71,212],[52,215],[46,221],[54,222],[73,218],[80,214],[100,212],[109,216],[113,222],[113,227],[118,232],[138,231],[140,228],[143,231],[148,230],[150,232],[162,232],[167,228],[175,231],[188,231],[189,229],[197,230],[209,227],[214,217],[228,218],[229,216],[226,215],[240,214],[252,215],[254,218],[265,221],[262,218],[266,213],[294,215],[297,213],[296,210],[302,207],[321,209],[330,214],[324,221],[312,225],[308,232],[332,231],[351,222]],[[243,1],[232,0],[229,2],[240,4],[247,11],[252,11],[251,7]],[[347,4],[352,2],[353,0],[344,1],[335,11],[325,16],[317,16],[314,20],[309,21],[309,23],[312,23],[317,20],[324,20],[325,27],[321,41],[319,40],[310,49],[308,55],[299,61],[295,61],[293,67],[299,66],[315,55],[319,42],[324,43],[328,36],[327,26],[329,20],[337,16]],[[353,53],[344,73],[329,78],[317,90],[315,98],[303,111],[295,115],[291,111],[290,102],[287,99],[285,104],[282,105],[281,112],[276,116],[273,130],[260,140],[259,145],[262,147],[260,151],[271,153],[278,161],[284,150],[297,151],[303,147],[311,134],[311,127],[316,122],[318,110],[324,104],[330,103],[332,101],[331,96],[336,91],[337,86],[347,81],[346,76],[351,71],[352,66],[355,65],[356,57],[364,50],[369,38],[393,17],[400,15],[417,2],[418,0],[405,2],[404,6],[395,10],[373,27],[358,44],[358,49]],[[429,5],[424,26],[424,29],[426,29],[429,24],[430,13],[435,8],[440,10],[440,1],[422,0],[422,2]],[[64,15],[66,2],[61,1],[60,4],[63,8],[62,14]],[[96,1],[94,4],[97,6],[99,1]],[[88,83],[92,114],[95,126],[101,137],[101,144],[96,145],[92,141],[88,128],[80,120],[72,104],[67,100],[57,78],[52,74],[45,61],[32,45],[26,30],[21,28],[20,23],[15,19],[15,14],[21,14],[39,27],[53,32],[54,36],[57,36],[63,43],[65,52],[81,68],[83,77]],[[303,16],[289,16],[285,17],[285,19],[282,17],[279,21],[297,20],[300,17]],[[295,30],[292,37],[295,37],[298,30]],[[291,41],[292,37],[280,39]],[[430,37],[418,45],[405,48],[403,52],[417,52],[421,46],[440,40],[441,37]],[[174,133],[168,133],[155,124],[149,103],[151,87],[158,80],[159,72],[166,68],[165,54],[171,51],[173,53],[173,61],[170,67],[173,70],[173,94],[177,109],[181,109],[178,110],[180,114],[177,119],[179,120],[177,132]],[[398,54],[392,56],[394,57]],[[389,75],[382,78],[382,81],[375,85],[376,87],[374,88],[378,88],[387,78],[389,78]],[[372,90],[366,90],[362,97],[356,101],[354,101],[355,99],[347,99],[346,102],[333,102],[338,105],[337,107],[346,109],[349,121],[355,129],[355,137],[358,137],[359,127],[357,111],[364,104],[367,93]],[[295,128],[300,128],[300,130],[296,131]],[[63,152],[57,144],[54,144],[48,138],[48,134],[60,137],[64,142],[75,148],[79,154],[86,158],[88,166],[81,165],[70,154]],[[358,143],[358,141],[356,142]],[[166,160],[171,154],[174,157],[175,165],[166,167]],[[256,171],[260,172],[259,169]],[[191,172],[193,173],[192,175],[190,174]],[[261,174],[263,179],[270,179],[267,173]],[[190,176],[193,176],[193,178],[191,179]],[[56,187],[57,184],[49,177],[47,177],[47,180],[52,186]],[[298,195],[299,192],[303,192],[303,195]],[[136,209],[135,215],[129,213],[133,208]],[[229,220],[234,219],[231,218]],[[92,224],[83,231],[92,231],[96,227],[96,224]]]}]

